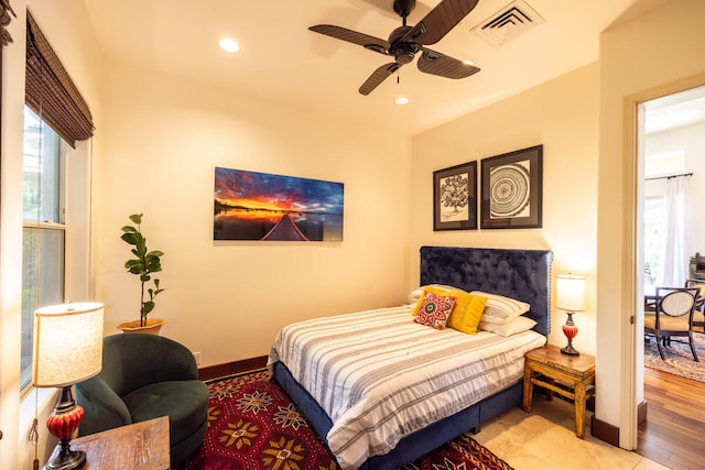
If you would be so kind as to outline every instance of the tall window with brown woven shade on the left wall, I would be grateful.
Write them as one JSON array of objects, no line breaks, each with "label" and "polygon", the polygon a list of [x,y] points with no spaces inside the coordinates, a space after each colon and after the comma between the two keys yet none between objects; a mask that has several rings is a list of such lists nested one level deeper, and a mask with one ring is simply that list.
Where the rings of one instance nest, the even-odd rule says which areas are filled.
[{"label": "tall window with brown woven shade on the left wall", "polygon": [[[72,162],[80,162],[80,156],[87,155],[85,150],[72,151],[70,161],[65,155],[69,146],[75,150],[76,142],[90,139],[94,131],[88,105],[30,11],[26,12],[24,83],[22,389],[32,381],[34,310],[45,305],[63,303],[67,284],[73,285],[68,288],[68,295],[78,292],[74,278],[76,273],[69,280],[73,282],[66,283],[64,259],[66,247],[73,251],[68,253],[72,259],[87,258],[89,247],[78,244],[87,233],[86,227],[80,227],[80,220],[89,218],[89,201],[75,198],[66,203],[65,174],[70,173],[72,188],[82,187],[89,175],[77,171],[75,165],[70,170]],[[66,206],[72,207],[74,217],[69,221],[74,234],[68,240]],[[84,214],[85,217],[82,217]],[[80,270],[78,271],[80,274]],[[87,276],[87,273],[84,274]]]}]

